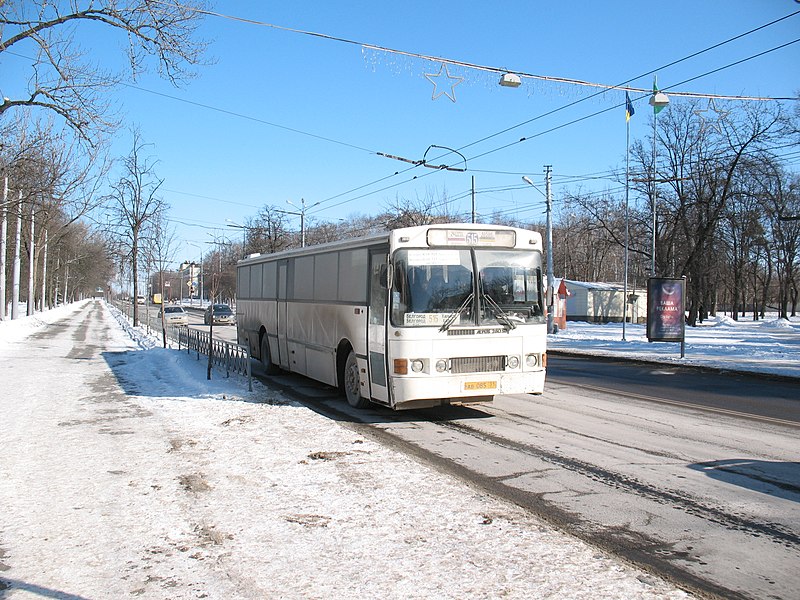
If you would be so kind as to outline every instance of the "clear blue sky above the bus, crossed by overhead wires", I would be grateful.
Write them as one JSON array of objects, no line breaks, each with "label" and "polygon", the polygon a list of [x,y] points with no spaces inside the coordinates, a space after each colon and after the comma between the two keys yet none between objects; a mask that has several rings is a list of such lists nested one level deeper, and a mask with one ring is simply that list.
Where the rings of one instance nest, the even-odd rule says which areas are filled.
[{"label": "clear blue sky above the bus, crossed by overhead wires", "polygon": [[[479,214],[543,219],[542,194],[521,176],[543,190],[546,164],[553,166],[556,200],[579,185],[617,187],[611,180],[579,179],[624,167],[624,92],[567,107],[598,90],[527,78],[512,89],[498,85],[497,73],[449,66],[450,75],[463,80],[436,89],[456,101],[444,94],[433,100],[434,85],[425,75],[437,73],[440,63],[359,44],[647,89],[652,75],[637,76],[796,12],[800,3],[243,0],[217,2],[212,10],[358,43],[206,17],[200,33],[212,41],[214,64],[201,68],[197,79],[175,89],[153,75],[120,90],[116,100],[126,122],[141,128],[159,160],[179,237],[201,244],[214,228],[217,235],[241,239],[226,219],[244,223],[265,204],[294,210],[287,200],[299,206],[304,199],[308,217],[323,221],[375,214],[398,198],[447,196],[454,199],[453,211],[466,212],[473,176]],[[101,38],[96,30],[79,35],[86,47],[103,52],[124,42]],[[800,15],[659,70],[659,85],[667,91],[796,97],[800,43],[676,84],[798,38]],[[22,65],[13,57],[0,63],[12,73]],[[633,140],[652,127],[652,111],[640,96],[631,95]],[[576,119],[583,120],[566,125]],[[515,143],[522,137],[529,140]],[[378,154],[418,160],[431,145],[460,149],[468,170],[409,170],[411,165]],[[120,135],[116,153],[129,149]],[[435,152],[428,158],[441,156]],[[452,155],[439,162],[464,166]],[[195,258],[199,251],[187,246],[182,254]]]}]

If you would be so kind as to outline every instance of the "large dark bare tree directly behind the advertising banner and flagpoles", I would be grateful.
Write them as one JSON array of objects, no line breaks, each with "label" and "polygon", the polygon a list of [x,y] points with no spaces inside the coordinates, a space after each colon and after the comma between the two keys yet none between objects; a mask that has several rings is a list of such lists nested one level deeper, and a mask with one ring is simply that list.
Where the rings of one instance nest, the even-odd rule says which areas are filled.
[{"label": "large dark bare tree directly behind the advertising banner and flagpoles", "polygon": [[666,210],[660,213],[656,271],[688,277],[692,325],[701,305],[713,302],[716,294],[723,253],[718,227],[740,193],[747,166],[763,159],[766,149],[788,132],[780,106],[725,108],[709,115],[697,103],[670,107],[658,121],[665,158],[657,169],[643,144],[634,152],[643,172],[654,172],[657,181],[665,182],[659,186],[659,203]]}]

